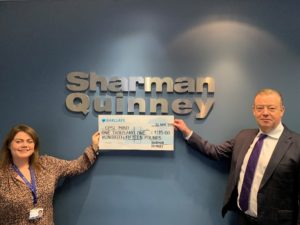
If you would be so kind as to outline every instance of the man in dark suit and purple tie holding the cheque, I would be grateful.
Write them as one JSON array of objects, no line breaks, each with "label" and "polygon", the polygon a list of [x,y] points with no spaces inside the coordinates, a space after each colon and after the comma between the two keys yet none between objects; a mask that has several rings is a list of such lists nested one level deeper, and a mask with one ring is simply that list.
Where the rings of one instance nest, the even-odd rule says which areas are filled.
[{"label": "man in dark suit and purple tie holding the cheque", "polygon": [[231,159],[223,216],[238,212],[238,225],[299,225],[300,135],[282,124],[278,91],[260,90],[252,111],[259,129],[242,130],[221,145],[208,143],[183,120],[175,119],[174,127],[210,158]]}]

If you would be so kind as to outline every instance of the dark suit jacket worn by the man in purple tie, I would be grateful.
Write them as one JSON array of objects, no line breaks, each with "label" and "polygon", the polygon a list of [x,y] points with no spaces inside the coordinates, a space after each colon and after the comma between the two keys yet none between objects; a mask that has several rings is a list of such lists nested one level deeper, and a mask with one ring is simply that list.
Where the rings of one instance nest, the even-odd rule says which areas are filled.
[{"label": "dark suit jacket worn by the man in purple tie", "polygon": [[[193,132],[187,141],[208,157],[231,159],[222,215],[237,208],[237,183],[244,157],[258,129],[240,131],[221,145],[210,144]],[[259,225],[300,225],[300,135],[284,126],[284,131],[266,168],[257,196]]]}]

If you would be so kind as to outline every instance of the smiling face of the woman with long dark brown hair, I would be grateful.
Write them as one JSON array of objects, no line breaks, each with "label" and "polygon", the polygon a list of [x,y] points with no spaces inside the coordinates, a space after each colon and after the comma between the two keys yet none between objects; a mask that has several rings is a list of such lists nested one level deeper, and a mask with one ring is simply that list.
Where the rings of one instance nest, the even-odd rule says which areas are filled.
[{"label": "smiling face of the woman with long dark brown hair", "polygon": [[34,153],[34,146],[34,140],[29,134],[23,131],[18,132],[10,143],[13,161],[29,160],[30,156]]}]

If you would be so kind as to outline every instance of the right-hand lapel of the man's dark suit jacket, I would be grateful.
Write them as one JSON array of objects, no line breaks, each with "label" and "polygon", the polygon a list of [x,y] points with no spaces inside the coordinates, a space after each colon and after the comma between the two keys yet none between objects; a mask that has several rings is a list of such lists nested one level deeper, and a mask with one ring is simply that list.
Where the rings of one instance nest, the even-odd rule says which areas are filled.
[{"label": "right-hand lapel of the man's dark suit jacket", "polygon": [[286,151],[289,149],[291,143],[292,141],[290,132],[287,130],[287,128],[285,128],[271,156],[259,189],[263,188],[263,186],[267,183],[267,181],[273,174],[275,168],[279,164],[280,160],[282,159]]}]

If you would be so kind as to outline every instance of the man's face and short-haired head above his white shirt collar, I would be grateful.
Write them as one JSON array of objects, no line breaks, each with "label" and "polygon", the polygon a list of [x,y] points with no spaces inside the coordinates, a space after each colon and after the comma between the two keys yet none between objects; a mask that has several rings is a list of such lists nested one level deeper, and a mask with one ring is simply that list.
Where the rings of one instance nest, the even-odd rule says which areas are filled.
[{"label": "man's face and short-haired head above his white shirt collar", "polygon": [[284,107],[277,93],[262,93],[255,97],[253,115],[263,132],[269,132],[276,128],[283,114]]}]

